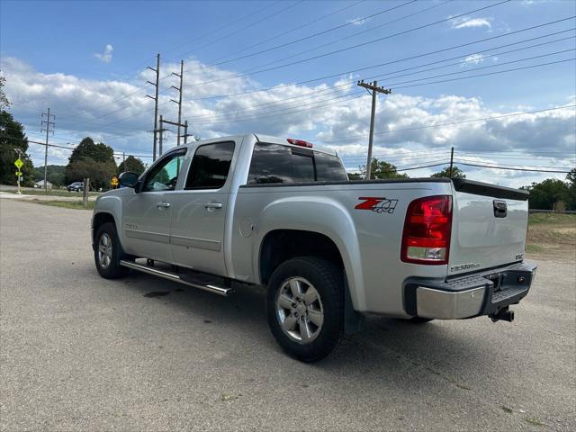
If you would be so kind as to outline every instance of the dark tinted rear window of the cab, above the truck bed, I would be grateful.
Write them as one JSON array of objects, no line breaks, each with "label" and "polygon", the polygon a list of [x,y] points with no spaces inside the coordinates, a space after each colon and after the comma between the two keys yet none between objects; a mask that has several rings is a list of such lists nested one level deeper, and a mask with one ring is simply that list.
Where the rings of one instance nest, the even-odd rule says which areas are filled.
[{"label": "dark tinted rear window of the cab, above the truck bed", "polygon": [[310,148],[257,142],[247,184],[343,182],[347,173],[337,156]]}]

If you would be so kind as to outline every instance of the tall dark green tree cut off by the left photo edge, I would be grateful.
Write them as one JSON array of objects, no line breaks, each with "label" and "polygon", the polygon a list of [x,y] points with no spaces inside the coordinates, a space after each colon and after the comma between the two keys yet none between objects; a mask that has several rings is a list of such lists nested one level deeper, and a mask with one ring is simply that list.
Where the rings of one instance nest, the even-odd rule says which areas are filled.
[{"label": "tall dark green tree cut off by the left photo edge", "polygon": [[[4,94],[0,99],[5,97]],[[4,104],[4,103],[3,103]],[[0,110],[0,183],[16,184],[16,166],[14,162],[18,158],[16,148],[22,150],[25,154],[28,150],[28,139],[24,134],[24,127],[19,121],[15,121],[10,112]],[[28,155],[22,157],[23,167],[20,171],[23,173],[23,186],[31,186],[34,183],[32,174],[32,162]]]}]

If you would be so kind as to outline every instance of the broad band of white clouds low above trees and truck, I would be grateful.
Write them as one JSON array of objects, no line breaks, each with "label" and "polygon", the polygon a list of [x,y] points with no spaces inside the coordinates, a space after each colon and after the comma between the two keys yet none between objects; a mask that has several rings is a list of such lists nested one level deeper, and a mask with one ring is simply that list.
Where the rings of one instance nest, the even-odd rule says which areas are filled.
[{"label": "broad band of white clouds low above trees and truck", "polygon": [[[74,143],[85,136],[92,136],[116,150],[127,150],[129,154],[151,154],[152,135],[149,131],[153,127],[154,103],[145,97],[151,89],[144,86],[146,80],[151,80],[151,71],[142,69],[134,81],[103,81],[61,73],[43,74],[16,58],[2,58],[0,67],[6,76],[5,93],[14,103],[11,111],[26,126],[30,139],[42,140],[37,132],[38,116],[49,106],[57,116],[54,143],[66,145],[68,141]],[[204,67],[195,59],[185,60],[184,68],[183,119],[188,120],[192,132],[202,138],[249,131],[292,135],[338,150],[350,169],[365,164],[370,103],[368,95],[352,99],[350,94],[356,92],[355,76],[342,76],[333,84],[284,83],[272,90],[250,93],[261,88],[261,85],[247,77],[223,79],[234,75],[232,71]],[[172,71],[179,71],[179,64],[163,65],[163,76]],[[161,88],[176,85],[176,81],[172,81],[175,79],[166,78]],[[352,85],[347,85],[348,81],[352,81]],[[217,94],[238,93],[245,94],[211,98]],[[342,102],[333,100],[338,96],[345,96]],[[169,102],[171,98],[175,98],[174,91],[160,93],[159,112],[164,118],[175,121],[177,107]],[[575,102],[572,96],[560,104]],[[315,106],[319,108],[311,110]],[[410,166],[444,159],[448,155],[446,148],[454,146],[457,148],[456,155],[493,165],[574,165],[576,111],[573,108],[427,127],[495,117],[509,113],[509,109],[491,109],[479,98],[459,95],[421,97],[399,93],[383,96],[379,100],[376,116],[374,155],[389,158],[397,166]],[[533,108],[514,109],[521,112]],[[174,132],[166,133],[165,149],[174,145]],[[438,152],[439,148],[443,149]],[[475,152],[477,148],[489,153]],[[563,155],[543,159],[538,153],[543,149],[563,152]],[[507,150],[521,151],[521,156],[532,159],[495,157]],[[43,164],[43,148],[40,145],[31,145],[29,151],[36,165]],[[69,152],[66,149],[50,149],[49,163],[66,164],[67,155]],[[434,170],[430,168],[409,173],[429,175]],[[464,171],[469,178],[511,186],[553,176],[472,166],[465,167]],[[563,178],[564,175],[555,176]]]}]

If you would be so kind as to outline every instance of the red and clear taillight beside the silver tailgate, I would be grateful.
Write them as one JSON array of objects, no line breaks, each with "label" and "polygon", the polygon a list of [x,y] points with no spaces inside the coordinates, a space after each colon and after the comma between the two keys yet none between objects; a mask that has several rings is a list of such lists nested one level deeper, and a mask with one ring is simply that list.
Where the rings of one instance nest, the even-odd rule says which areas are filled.
[{"label": "red and clear taillight beside the silver tailgate", "polygon": [[402,233],[401,260],[406,263],[448,263],[452,230],[452,197],[427,196],[410,202]]}]

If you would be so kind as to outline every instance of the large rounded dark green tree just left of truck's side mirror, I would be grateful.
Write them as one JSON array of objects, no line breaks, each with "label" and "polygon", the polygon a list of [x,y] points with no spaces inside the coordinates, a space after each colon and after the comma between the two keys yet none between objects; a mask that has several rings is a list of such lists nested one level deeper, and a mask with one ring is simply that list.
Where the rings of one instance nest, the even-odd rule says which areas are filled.
[{"label": "large rounded dark green tree just left of truck's side mirror", "polygon": [[103,142],[96,144],[94,139],[86,137],[72,151],[65,177],[67,184],[89,177],[93,189],[105,189],[117,172],[114,150]]}]

